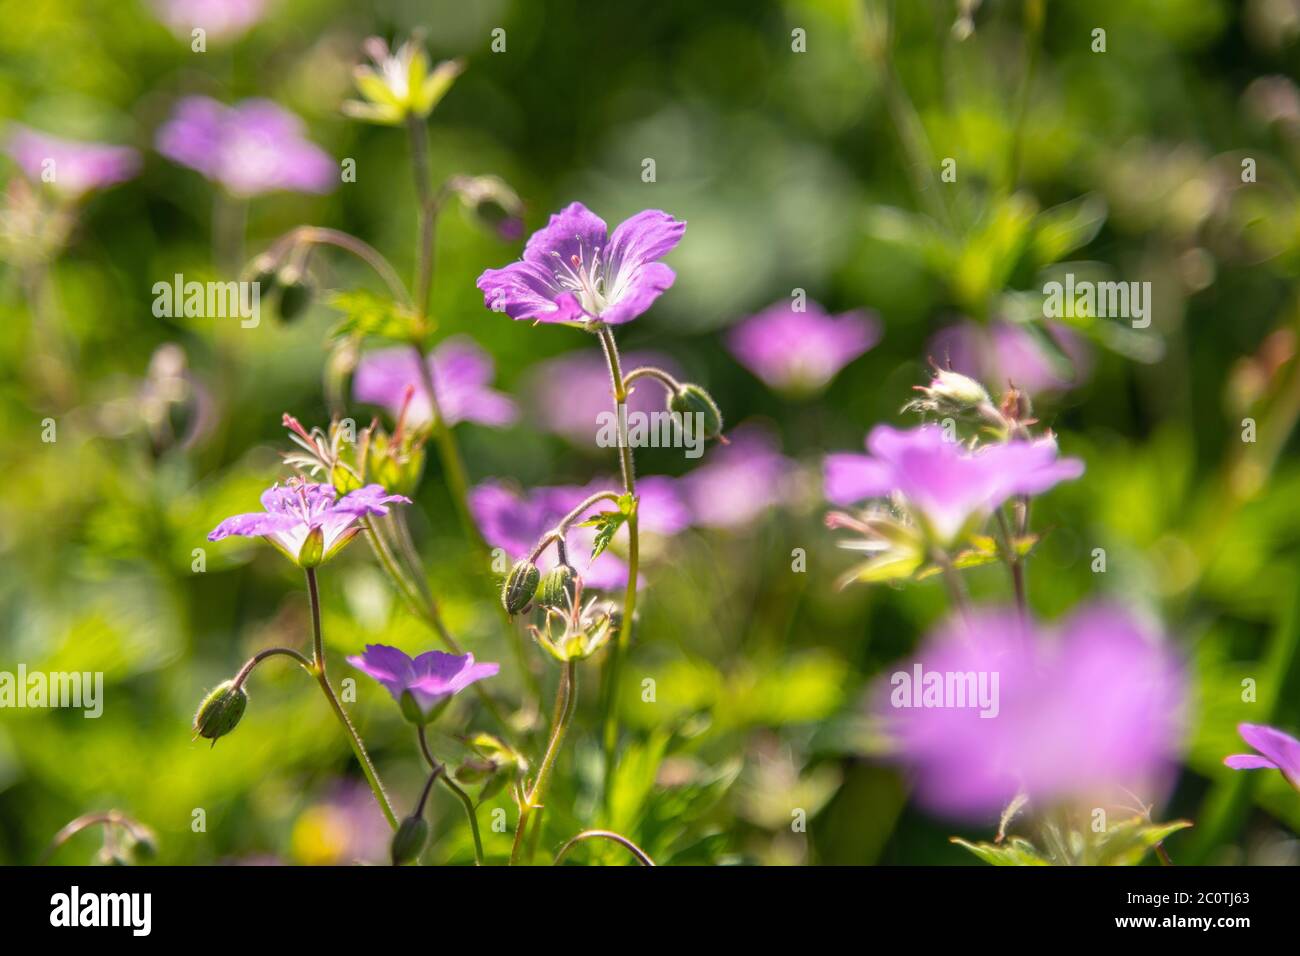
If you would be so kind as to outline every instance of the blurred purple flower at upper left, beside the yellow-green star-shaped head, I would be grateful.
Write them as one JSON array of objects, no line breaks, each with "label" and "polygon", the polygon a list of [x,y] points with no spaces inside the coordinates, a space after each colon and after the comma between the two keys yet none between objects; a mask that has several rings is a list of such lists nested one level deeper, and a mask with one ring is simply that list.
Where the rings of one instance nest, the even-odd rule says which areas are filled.
[{"label": "blurred purple flower at upper left, beside the yellow-green star-shaped head", "polygon": [[186,96],[159,130],[157,150],[237,196],[328,193],[338,169],[303,133],[302,120],[270,100],[226,107],[207,96]]}]

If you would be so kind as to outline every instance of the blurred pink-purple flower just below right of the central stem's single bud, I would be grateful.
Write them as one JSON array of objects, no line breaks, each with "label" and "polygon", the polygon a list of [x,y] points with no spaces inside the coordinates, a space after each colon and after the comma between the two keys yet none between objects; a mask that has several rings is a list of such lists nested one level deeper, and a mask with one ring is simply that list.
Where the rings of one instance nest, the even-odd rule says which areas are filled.
[{"label": "blurred pink-purple flower just below right of the central stem's single bud", "polygon": [[742,425],[728,438],[680,479],[692,522],[706,528],[741,528],[780,505],[794,470],[776,438],[758,425]]}]

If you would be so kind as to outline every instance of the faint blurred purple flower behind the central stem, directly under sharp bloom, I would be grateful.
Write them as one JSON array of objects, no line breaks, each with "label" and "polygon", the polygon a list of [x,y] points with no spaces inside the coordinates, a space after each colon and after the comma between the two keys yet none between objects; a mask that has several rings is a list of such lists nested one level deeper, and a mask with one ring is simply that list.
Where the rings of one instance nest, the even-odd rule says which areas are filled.
[{"label": "faint blurred purple flower behind the central stem, directly under sharp bloom", "polygon": [[[646,351],[624,352],[623,373],[654,365],[668,375],[680,376],[681,368],[667,355]],[[595,445],[599,431],[597,415],[614,408],[610,393],[610,369],[604,356],[593,349],[568,352],[536,365],[529,373],[529,407],[538,423],[575,445]],[[641,380],[632,384],[628,414],[663,411],[667,398],[660,385]]]}]

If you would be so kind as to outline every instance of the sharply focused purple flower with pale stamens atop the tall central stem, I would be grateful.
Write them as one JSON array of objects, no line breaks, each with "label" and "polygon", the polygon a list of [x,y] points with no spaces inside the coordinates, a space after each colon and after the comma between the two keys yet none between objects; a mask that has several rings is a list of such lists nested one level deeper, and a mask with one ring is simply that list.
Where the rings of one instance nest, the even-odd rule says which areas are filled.
[{"label": "sharply focused purple flower with pale stamens atop the tall central stem", "polygon": [[478,277],[484,303],[538,323],[629,323],[668,289],[676,273],[658,261],[686,224],[645,209],[608,234],[604,220],[571,203],[529,237],[524,258]]}]

